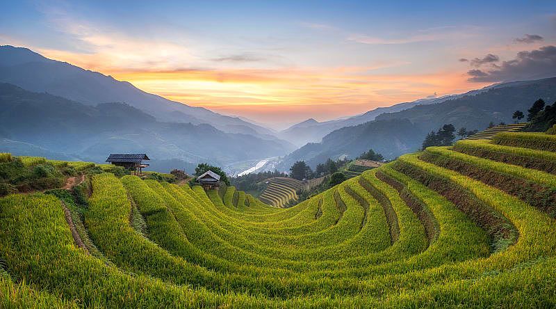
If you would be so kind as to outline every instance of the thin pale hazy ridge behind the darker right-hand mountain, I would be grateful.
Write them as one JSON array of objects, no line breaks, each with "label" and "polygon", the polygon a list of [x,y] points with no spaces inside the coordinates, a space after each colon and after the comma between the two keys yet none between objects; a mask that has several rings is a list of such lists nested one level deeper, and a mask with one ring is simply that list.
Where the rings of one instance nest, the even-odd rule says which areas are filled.
[{"label": "thin pale hazy ridge behind the darker right-hand mountain", "polygon": [[471,90],[466,93],[460,93],[456,95],[445,95],[443,97],[420,99],[412,102],[403,102],[403,103],[394,104],[389,107],[378,107],[377,109],[367,111],[366,113],[362,113],[361,115],[352,116],[345,119],[329,120],[324,122],[309,121],[311,120],[309,119],[279,132],[277,136],[279,136],[280,138],[284,138],[286,141],[291,141],[291,143],[294,143],[297,146],[302,146],[305,143],[315,143],[315,142],[318,143],[326,134],[329,134],[330,132],[336,129],[340,129],[342,127],[350,127],[354,125],[361,125],[362,123],[373,121],[377,118],[377,116],[382,115],[383,113],[395,113],[398,111],[404,111],[418,105],[439,104],[442,102],[455,100],[460,97],[478,95],[480,93],[484,93],[486,91],[497,89],[497,88],[507,88],[510,86],[512,87],[523,86],[529,84],[530,82],[531,81],[510,81],[507,83],[493,84],[491,86],[486,86],[484,88],[477,89],[477,90]]}]

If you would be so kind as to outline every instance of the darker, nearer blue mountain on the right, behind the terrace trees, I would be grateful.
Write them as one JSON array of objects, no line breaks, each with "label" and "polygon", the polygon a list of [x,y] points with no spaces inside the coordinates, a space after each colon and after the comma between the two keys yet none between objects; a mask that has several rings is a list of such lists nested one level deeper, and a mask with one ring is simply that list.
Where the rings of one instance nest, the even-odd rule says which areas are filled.
[{"label": "darker, nearer blue mountain on the right, behind the terrace trees", "polygon": [[[414,106],[381,113],[373,116],[375,120],[361,125],[336,129],[324,136],[320,143],[307,143],[288,154],[279,170],[288,171],[295,161],[300,160],[314,168],[329,157],[337,159],[347,155],[354,158],[369,149],[383,154],[386,159],[394,159],[418,150],[427,132],[441,125],[451,123],[456,128],[472,130],[485,129],[489,122],[512,122],[514,111],[526,113],[539,98],[547,103],[556,100],[556,77],[496,84],[464,95],[421,101],[425,104],[409,102],[403,106]],[[399,105],[392,107],[398,109]]]}]

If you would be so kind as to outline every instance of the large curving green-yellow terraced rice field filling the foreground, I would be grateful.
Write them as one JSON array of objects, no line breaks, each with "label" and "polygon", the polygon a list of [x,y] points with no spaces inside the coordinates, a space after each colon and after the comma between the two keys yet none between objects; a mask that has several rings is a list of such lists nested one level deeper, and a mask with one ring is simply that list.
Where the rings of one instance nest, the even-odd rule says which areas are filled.
[{"label": "large curving green-yellow terraced rice field filling the foreground", "polygon": [[0,307],[554,308],[554,145],[427,148],[288,209],[94,175],[82,217],[101,258],[75,245],[60,200],[8,196]]}]

